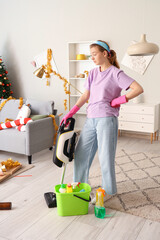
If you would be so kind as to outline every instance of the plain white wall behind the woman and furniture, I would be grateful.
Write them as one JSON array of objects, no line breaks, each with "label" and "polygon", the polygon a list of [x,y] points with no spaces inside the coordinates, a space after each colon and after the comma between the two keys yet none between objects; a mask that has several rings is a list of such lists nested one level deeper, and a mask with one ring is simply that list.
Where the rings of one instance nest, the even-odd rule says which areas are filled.
[{"label": "plain white wall behind the woman and furniture", "polygon": [[[147,34],[160,46],[159,0],[0,0],[0,55],[9,72],[15,97],[55,100],[64,113],[63,83],[52,77],[50,87],[33,75],[33,57],[53,50],[59,72],[66,77],[67,43],[102,39],[121,62],[131,40]],[[121,65],[144,88],[145,102],[160,102],[159,54],[146,73]]]}]

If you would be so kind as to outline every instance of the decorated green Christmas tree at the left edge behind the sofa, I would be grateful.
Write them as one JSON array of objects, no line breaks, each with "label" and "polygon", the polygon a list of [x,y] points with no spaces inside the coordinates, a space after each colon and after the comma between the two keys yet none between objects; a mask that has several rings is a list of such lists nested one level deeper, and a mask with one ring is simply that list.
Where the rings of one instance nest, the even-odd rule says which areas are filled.
[{"label": "decorated green Christmas tree at the left edge behind the sofa", "polygon": [[5,69],[5,66],[0,57],[0,98],[7,99],[10,97],[13,92],[11,91],[11,83],[7,77],[8,72]]}]

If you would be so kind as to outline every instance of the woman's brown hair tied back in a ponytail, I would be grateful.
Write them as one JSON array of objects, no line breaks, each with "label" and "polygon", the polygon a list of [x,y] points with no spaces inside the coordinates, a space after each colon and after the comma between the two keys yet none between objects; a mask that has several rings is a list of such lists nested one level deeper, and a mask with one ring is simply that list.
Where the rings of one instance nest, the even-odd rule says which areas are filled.
[{"label": "woman's brown hair tied back in a ponytail", "polygon": [[[102,40],[98,40],[98,41],[104,42],[104,43],[107,44],[107,46],[109,47],[109,45],[108,45],[107,42],[102,41]],[[98,49],[99,49],[100,52],[107,51],[105,48],[99,46],[99,45],[96,44],[96,43],[91,44],[91,45],[90,45],[90,48],[92,48],[92,47],[98,47]],[[109,49],[110,49],[110,47],[109,47]],[[108,52],[108,51],[107,51],[107,52]],[[115,52],[114,50],[112,50],[112,49],[110,49],[110,53],[108,52],[108,60],[109,60],[110,64],[112,64],[113,66],[115,66],[115,67],[117,67],[117,68],[120,68],[119,63],[118,63],[118,61],[117,61],[116,52]]]}]

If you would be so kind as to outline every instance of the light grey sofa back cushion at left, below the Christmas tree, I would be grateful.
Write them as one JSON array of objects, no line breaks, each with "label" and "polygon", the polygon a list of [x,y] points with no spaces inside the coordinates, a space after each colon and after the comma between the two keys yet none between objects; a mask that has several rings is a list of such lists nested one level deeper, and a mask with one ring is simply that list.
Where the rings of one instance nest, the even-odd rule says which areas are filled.
[{"label": "light grey sofa back cushion at left, below the Christmas tree", "polygon": [[[1,100],[3,103],[4,100]],[[25,100],[23,100],[25,103]],[[19,112],[19,99],[12,99],[6,102],[2,110],[0,111],[0,122],[5,122],[6,118],[15,120]]]}]

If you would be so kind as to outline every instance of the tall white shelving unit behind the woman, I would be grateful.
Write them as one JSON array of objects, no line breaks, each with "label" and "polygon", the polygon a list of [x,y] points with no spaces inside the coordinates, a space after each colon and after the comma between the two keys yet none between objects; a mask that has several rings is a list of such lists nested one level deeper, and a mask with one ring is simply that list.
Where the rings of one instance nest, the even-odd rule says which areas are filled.
[{"label": "tall white shelving unit behind the woman", "polygon": [[[86,57],[90,56],[90,44],[94,41],[85,41],[85,42],[69,42],[68,43],[68,79],[69,82],[75,86],[80,92],[84,92],[84,83],[86,81],[85,78],[77,78],[76,75],[84,74],[84,71],[90,71],[96,65],[92,60],[76,60],[77,54],[85,54]],[[71,109],[81,94],[75,90],[72,86],[70,86],[70,96],[69,96],[69,109]],[[80,111],[75,115],[76,118],[76,128],[82,129],[85,119],[86,119],[86,107],[85,104]]]}]

